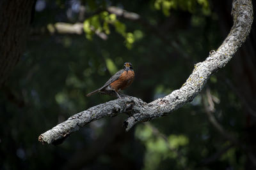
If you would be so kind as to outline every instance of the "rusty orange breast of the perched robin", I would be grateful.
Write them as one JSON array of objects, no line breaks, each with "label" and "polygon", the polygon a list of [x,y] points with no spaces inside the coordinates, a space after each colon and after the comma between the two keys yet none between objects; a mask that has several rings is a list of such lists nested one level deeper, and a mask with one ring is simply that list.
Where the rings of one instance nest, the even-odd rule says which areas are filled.
[{"label": "rusty orange breast of the perched robin", "polygon": [[126,87],[131,85],[132,81],[134,79],[134,71],[124,71],[118,80],[114,81],[110,84],[111,88],[118,91],[118,90],[124,90]]}]

